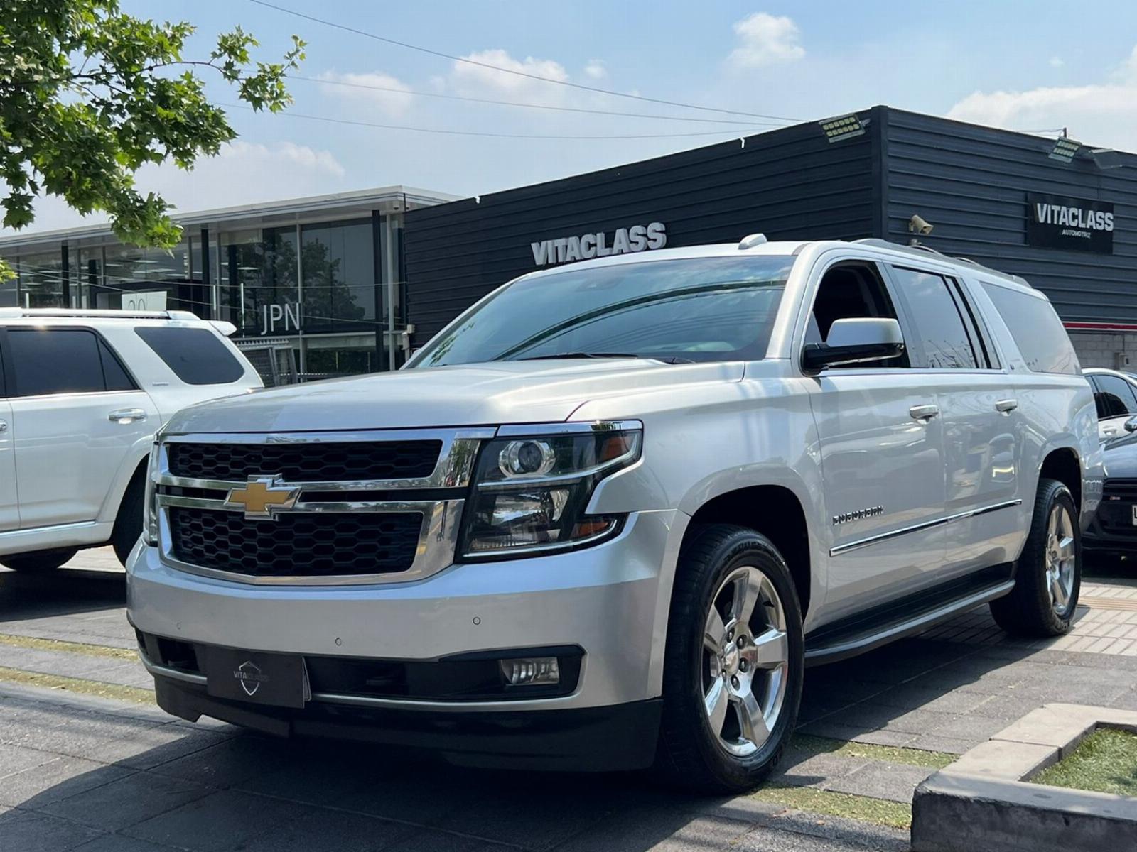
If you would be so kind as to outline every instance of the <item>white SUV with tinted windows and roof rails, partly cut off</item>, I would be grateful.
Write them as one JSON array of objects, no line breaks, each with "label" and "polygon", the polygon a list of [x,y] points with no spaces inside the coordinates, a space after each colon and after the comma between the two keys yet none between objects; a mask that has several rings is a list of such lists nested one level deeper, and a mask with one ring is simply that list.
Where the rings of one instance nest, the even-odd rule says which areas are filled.
[{"label": "white SUV with tinted windows and roof rails, partly cut off", "polygon": [[126,561],[153,433],[262,386],[233,331],[188,311],[0,309],[0,565],[49,570],[108,542]]}]

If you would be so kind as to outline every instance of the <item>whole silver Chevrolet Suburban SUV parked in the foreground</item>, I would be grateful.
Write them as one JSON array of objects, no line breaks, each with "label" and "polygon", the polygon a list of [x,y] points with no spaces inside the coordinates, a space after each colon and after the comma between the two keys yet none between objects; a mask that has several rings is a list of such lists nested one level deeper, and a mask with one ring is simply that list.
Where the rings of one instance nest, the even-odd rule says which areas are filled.
[{"label": "whole silver Chevrolet Suburban SUV parked in the foreground", "polygon": [[1019,278],[879,241],[606,258],[400,373],[175,416],[130,617],[185,719],[741,790],[807,665],[988,602],[1065,632],[1099,453]]}]

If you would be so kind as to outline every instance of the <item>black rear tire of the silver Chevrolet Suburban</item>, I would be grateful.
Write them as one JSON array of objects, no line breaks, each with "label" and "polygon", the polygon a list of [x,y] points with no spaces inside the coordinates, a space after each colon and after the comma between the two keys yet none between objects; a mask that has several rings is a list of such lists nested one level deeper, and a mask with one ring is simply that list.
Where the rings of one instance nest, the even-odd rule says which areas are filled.
[{"label": "black rear tire of the silver Chevrolet Suburban", "polygon": [[[1069,537],[1073,541],[1072,578],[1064,602],[1051,591],[1048,525],[1055,512],[1068,513]],[[1007,633],[1035,638],[1067,633],[1078,608],[1081,557],[1081,527],[1070,490],[1056,479],[1039,481],[1030,534],[1015,565],[1014,588],[990,603],[991,615],[998,626]]]}]

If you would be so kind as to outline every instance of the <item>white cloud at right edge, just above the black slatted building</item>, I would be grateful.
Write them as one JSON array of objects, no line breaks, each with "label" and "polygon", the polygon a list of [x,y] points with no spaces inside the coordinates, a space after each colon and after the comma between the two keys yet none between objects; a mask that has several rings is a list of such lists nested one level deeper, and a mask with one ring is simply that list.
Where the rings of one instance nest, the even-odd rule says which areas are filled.
[{"label": "white cloud at right edge, just above the black slatted building", "polygon": [[1069,127],[1074,139],[1137,150],[1137,48],[1106,81],[973,92],[947,117],[1009,130]]}]

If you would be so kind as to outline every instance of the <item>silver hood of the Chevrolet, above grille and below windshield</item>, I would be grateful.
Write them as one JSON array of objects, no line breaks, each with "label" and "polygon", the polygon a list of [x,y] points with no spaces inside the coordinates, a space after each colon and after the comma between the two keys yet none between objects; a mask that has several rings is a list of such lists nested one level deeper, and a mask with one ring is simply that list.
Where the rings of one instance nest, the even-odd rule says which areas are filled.
[{"label": "silver hood of the Chevrolet, above grille and below windshield", "polygon": [[[559,423],[590,400],[739,382],[741,364],[495,361],[274,387],[191,406],[168,432],[301,432]],[[629,406],[628,416],[634,416]]]}]

